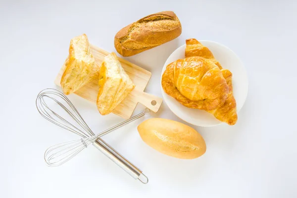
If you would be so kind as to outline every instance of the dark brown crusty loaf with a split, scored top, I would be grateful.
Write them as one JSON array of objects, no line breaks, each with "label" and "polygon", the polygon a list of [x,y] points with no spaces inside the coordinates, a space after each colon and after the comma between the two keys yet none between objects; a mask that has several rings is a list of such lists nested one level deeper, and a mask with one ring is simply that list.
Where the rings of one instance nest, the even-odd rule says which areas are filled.
[{"label": "dark brown crusty loaf with a split, scored top", "polygon": [[177,38],[182,26],[172,11],[148,15],[121,29],[114,47],[122,56],[132,56]]}]

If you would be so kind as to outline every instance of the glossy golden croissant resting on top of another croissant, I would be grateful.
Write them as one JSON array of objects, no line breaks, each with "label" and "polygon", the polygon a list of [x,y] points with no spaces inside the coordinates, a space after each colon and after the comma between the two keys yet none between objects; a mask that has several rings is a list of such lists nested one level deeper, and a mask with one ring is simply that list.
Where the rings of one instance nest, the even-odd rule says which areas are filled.
[{"label": "glossy golden croissant resting on top of another croissant", "polygon": [[166,94],[190,108],[214,110],[227,99],[229,88],[219,67],[200,56],[167,65],[162,75]]}]

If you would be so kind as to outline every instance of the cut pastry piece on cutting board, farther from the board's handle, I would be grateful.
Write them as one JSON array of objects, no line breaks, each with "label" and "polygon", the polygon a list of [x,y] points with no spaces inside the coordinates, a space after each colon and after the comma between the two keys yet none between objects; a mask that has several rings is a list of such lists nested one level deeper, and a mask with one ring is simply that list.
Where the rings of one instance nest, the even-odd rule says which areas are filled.
[{"label": "cut pastry piece on cutting board, farther from the board's handle", "polygon": [[87,35],[74,37],[70,42],[69,56],[61,78],[63,93],[68,95],[99,76],[99,66],[90,49]]}]

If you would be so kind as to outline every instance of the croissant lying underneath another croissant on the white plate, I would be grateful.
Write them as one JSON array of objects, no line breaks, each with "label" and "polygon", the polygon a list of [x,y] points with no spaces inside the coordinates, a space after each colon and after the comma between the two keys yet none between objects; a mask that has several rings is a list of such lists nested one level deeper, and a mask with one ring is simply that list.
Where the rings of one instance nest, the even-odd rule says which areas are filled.
[{"label": "croissant lying underneath another croissant on the white plate", "polygon": [[237,122],[236,100],[233,96],[232,73],[228,69],[223,69],[220,63],[214,58],[212,52],[203,46],[196,39],[186,40],[186,57],[201,56],[214,62],[220,69],[228,84],[227,99],[223,105],[219,105],[216,109],[207,110],[213,114],[218,120],[234,125]]}]

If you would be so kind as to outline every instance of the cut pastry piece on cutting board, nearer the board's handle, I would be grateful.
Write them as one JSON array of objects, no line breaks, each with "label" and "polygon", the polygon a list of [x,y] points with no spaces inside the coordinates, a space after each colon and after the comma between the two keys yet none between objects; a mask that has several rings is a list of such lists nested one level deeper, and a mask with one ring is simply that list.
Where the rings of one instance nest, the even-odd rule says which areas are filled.
[{"label": "cut pastry piece on cutting board, nearer the board's handle", "polygon": [[123,69],[114,52],[106,55],[99,74],[97,107],[101,115],[109,114],[135,85]]}]

